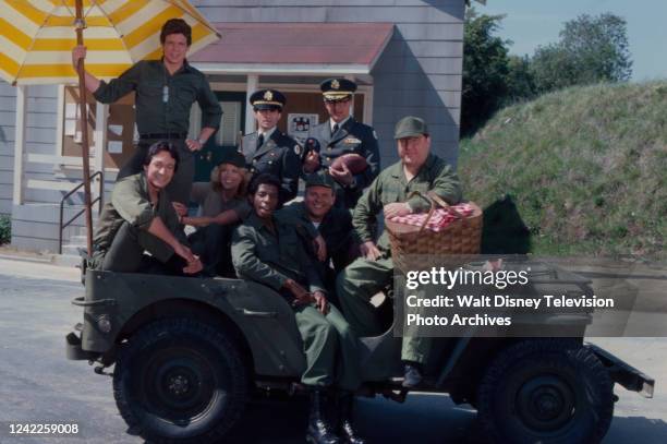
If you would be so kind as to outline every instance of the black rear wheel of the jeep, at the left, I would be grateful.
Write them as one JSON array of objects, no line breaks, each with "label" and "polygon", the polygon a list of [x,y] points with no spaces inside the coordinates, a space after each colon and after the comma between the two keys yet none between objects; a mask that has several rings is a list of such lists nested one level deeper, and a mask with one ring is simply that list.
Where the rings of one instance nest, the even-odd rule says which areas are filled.
[{"label": "black rear wheel of the jeep, at the left", "polygon": [[247,374],[223,331],[167,319],[121,346],[113,396],[129,432],[148,442],[215,442],[243,412]]}]

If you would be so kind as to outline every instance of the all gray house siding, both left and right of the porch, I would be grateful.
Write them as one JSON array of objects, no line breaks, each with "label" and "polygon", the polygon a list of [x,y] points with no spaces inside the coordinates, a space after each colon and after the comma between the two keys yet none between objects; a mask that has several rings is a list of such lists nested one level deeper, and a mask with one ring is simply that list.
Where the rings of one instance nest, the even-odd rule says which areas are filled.
[{"label": "all gray house siding, both left and right of the porch", "polygon": [[[407,115],[427,120],[433,149],[456,164],[459,140],[464,0],[194,0],[211,22],[393,23],[395,32],[372,75],[373,122],[383,166],[397,160],[393,125]],[[354,48],[350,48],[354,51]],[[366,81],[362,76],[362,81]],[[314,80],[317,82],[317,79]],[[288,82],[289,83],[289,82]],[[25,154],[54,155],[58,88],[29,86]],[[12,243],[22,249],[58,249],[58,204],[64,192],[24,187],[23,205],[12,205],[16,89],[0,82],[0,214],[12,214]],[[29,179],[81,179],[49,164],[24,163]],[[106,178],[108,195],[114,177]],[[65,219],[81,207],[73,196]],[[81,232],[76,225],[64,238]]]}]

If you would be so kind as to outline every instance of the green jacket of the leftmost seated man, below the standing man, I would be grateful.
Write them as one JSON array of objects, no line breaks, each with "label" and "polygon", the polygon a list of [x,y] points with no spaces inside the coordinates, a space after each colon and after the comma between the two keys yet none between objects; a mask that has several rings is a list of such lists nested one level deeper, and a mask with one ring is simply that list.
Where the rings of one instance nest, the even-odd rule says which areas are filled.
[{"label": "green jacket of the leftmost seated man, below the standing man", "polygon": [[185,239],[181,236],[182,230],[179,229],[179,216],[167,192],[160,191],[158,203],[153,206],[148,195],[146,175],[140,172],[128,176],[113,185],[111,200],[105,204],[99,216],[93,243],[99,250],[107,250],[124,221],[147,230],[155,217],[162,219],[167,228],[185,243]]}]

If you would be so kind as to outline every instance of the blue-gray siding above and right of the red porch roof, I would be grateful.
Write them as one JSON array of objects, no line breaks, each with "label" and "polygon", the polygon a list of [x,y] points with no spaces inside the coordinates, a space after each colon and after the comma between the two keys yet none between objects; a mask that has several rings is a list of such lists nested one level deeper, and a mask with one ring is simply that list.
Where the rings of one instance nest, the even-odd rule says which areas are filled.
[{"label": "blue-gray siding above and right of the red porch roof", "polygon": [[383,164],[387,166],[398,158],[392,140],[397,120],[415,115],[428,122],[433,149],[456,165],[463,0],[201,0],[193,3],[211,22],[393,23],[391,41],[372,72],[373,125],[380,139]]}]

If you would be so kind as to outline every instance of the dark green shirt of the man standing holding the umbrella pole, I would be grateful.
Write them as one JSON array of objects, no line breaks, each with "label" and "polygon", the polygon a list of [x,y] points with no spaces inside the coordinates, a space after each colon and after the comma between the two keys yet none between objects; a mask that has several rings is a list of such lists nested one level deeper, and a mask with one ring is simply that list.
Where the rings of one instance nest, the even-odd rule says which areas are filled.
[{"label": "dark green shirt of the man standing holding the umbrella pole", "polygon": [[220,127],[222,108],[206,76],[187,61],[169,75],[161,60],[142,60],[118,79],[102,81],[94,96],[98,101],[110,104],[133,91],[140,134],[187,133],[190,108],[195,101],[202,107],[202,127]]}]

